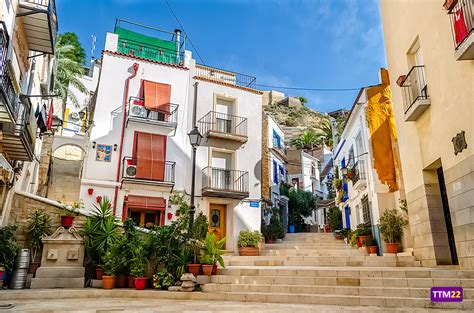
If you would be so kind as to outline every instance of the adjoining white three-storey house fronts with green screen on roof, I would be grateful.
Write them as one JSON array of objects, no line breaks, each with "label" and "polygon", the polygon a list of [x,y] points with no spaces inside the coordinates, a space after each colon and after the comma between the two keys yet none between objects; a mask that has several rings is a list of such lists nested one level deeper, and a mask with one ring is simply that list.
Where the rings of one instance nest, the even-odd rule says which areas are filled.
[{"label": "adjoining white three-storey house fronts with green screen on roof", "polygon": [[204,136],[197,211],[236,250],[240,230],[260,228],[262,100],[255,78],[196,64],[178,30],[158,38],[134,27],[122,21],[107,33],[80,197],[86,208],[98,196],[111,198],[122,220],[170,223],[177,209],[172,192],[191,193],[187,134],[196,101]]}]

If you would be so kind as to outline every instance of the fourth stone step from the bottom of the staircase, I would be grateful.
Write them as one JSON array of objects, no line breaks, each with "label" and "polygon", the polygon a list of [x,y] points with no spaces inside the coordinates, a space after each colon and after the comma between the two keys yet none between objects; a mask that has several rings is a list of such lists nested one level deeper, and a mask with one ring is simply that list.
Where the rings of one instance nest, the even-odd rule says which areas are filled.
[{"label": "fourth stone step from the bottom of the staircase", "polygon": [[413,256],[225,256],[228,266],[420,266]]}]

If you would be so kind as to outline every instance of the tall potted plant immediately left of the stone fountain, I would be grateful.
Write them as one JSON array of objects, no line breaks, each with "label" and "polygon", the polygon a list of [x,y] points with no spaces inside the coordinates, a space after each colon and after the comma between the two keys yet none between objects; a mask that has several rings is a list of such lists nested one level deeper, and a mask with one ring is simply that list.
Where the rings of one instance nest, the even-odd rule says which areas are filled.
[{"label": "tall potted plant immediately left of the stone fountain", "polygon": [[[28,273],[36,274],[40,265],[43,242],[41,239],[51,235],[51,218],[44,209],[35,210],[30,213],[28,225],[26,226],[26,236],[30,247],[30,267]],[[39,256],[39,258],[38,258]]]}]

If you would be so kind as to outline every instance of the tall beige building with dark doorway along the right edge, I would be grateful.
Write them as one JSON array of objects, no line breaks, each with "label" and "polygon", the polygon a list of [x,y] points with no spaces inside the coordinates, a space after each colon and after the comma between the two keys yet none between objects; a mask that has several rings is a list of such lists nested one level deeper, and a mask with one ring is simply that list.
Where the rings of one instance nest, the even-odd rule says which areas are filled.
[{"label": "tall beige building with dark doorway along the right edge", "polygon": [[446,6],[382,0],[381,13],[415,256],[472,269],[474,1]]}]

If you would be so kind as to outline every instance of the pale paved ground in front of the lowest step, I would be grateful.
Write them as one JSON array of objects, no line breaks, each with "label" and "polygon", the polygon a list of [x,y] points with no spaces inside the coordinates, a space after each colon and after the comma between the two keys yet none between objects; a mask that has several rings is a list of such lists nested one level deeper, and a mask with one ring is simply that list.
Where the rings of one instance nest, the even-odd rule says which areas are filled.
[{"label": "pale paved ground in front of the lowest step", "polygon": [[[7,307],[12,304],[12,307]],[[428,313],[442,310],[416,308],[377,308],[377,307],[338,307],[328,305],[297,305],[275,303],[252,303],[230,301],[202,300],[156,300],[156,299],[47,299],[47,300],[13,300],[0,301],[0,312],[81,312],[81,313],[113,313],[113,312],[410,312]],[[449,312],[466,312],[450,310]]]}]

